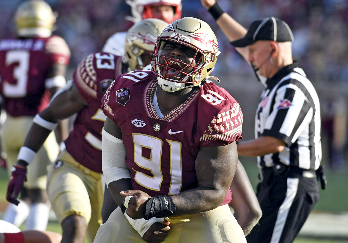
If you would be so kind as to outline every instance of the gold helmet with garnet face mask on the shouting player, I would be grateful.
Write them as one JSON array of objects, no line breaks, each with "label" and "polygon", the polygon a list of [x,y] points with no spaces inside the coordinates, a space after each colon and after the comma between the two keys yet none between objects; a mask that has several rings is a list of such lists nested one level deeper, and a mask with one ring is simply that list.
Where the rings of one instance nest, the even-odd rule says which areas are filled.
[{"label": "gold helmet with garnet face mask on the shouting player", "polygon": [[[191,63],[162,55],[166,45],[182,45],[192,53]],[[168,92],[200,86],[212,71],[219,55],[210,26],[197,18],[184,17],[169,24],[157,37],[153,71],[159,86]]]}]

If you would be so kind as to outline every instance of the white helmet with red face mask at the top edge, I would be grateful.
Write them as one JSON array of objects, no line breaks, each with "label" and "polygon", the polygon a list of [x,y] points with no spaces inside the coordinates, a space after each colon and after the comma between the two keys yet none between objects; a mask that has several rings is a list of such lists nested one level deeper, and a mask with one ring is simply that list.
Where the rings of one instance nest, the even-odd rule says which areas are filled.
[{"label": "white helmet with red face mask at the top edge", "polygon": [[181,18],[182,4],[181,0],[126,0],[132,11],[132,17],[129,20],[137,23],[145,18],[153,18],[150,7],[158,5],[173,6],[174,17],[172,19],[163,19],[168,24]]}]

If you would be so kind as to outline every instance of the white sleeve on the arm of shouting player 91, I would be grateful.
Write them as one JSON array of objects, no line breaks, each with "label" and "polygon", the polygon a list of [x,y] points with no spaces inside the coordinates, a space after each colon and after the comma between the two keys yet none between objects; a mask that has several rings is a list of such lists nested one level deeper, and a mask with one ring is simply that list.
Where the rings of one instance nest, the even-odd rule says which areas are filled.
[{"label": "white sleeve on the arm of shouting player 91", "polygon": [[126,166],[126,147],[121,139],[112,136],[103,128],[102,132],[102,169],[106,185],[122,178],[130,178]]}]

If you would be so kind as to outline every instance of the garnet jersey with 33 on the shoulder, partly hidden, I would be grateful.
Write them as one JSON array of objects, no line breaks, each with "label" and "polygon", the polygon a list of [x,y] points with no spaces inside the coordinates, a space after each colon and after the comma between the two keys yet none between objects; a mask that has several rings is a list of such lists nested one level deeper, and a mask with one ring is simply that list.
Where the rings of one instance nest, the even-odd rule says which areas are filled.
[{"label": "garnet jersey with 33 on the shoulder, partly hidden", "polygon": [[66,150],[77,162],[102,173],[102,129],[106,116],[101,100],[116,76],[122,74],[122,57],[109,53],[89,54],[74,72],[74,83],[87,106],[77,113]]}]

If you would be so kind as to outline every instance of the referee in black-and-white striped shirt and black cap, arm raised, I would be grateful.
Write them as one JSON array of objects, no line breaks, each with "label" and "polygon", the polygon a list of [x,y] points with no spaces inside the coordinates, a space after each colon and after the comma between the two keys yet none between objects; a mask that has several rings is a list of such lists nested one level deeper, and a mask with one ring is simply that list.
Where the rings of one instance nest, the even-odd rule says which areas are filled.
[{"label": "referee in black-and-white striped shirt and black cap, arm raised", "polygon": [[[269,17],[248,30],[224,13],[216,0],[201,0],[236,50],[252,65],[264,91],[256,110],[255,139],[240,142],[238,155],[257,156],[262,217],[247,242],[293,242],[319,199],[321,121],[317,93],[293,61],[293,34]],[[319,169],[319,170],[318,170]]]}]

